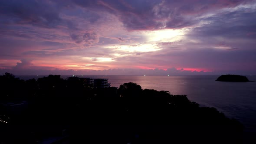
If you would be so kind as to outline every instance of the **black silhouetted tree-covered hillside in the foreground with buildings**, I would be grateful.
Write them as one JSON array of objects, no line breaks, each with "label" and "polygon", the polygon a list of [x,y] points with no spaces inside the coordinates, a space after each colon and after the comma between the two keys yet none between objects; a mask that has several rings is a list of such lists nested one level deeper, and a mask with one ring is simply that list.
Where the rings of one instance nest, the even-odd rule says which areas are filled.
[{"label": "black silhouetted tree-covered hillside in the foreground with buildings", "polygon": [[90,88],[79,77],[24,81],[5,73],[0,92],[5,144],[38,144],[50,137],[59,137],[56,144],[242,143],[243,125],[216,108],[132,82]]}]

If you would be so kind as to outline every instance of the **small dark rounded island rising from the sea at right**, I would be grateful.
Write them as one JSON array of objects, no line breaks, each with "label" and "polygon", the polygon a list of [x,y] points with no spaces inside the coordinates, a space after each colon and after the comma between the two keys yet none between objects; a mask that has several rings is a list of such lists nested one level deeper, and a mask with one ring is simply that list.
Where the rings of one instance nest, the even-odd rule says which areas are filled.
[{"label": "small dark rounded island rising from the sea at right", "polygon": [[216,81],[221,82],[253,82],[249,81],[246,76],[243,75],[221,75],[216,79]]}]

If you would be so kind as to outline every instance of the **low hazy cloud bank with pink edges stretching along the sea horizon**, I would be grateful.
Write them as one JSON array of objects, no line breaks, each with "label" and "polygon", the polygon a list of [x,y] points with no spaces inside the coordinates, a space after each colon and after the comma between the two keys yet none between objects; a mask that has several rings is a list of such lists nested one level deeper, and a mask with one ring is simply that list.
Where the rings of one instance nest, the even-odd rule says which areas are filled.
[{"label": "low hazy cloud bank with pink edges stretching along the sea horizon", "polygon": [[0,69],[0,75],[4,75],[5,72],[12,73],[14,75],[136,75],[136,76],[175,76],[175,75],[223,75],[223,74],[245,74],[251,75],[251,73],[243,73],[243,71],[222,71],[222,72],[206,72],[197,71],[195,69],[105,69],[105,70],[42,70],[42,69]]}]

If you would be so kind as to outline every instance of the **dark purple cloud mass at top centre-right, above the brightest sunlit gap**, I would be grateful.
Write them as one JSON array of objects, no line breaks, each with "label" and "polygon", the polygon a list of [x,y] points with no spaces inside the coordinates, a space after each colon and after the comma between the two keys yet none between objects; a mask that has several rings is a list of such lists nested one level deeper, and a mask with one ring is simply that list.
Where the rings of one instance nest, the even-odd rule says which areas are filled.
[{"label": "dark purple cloud mass at top centre-right, above the brightest sunlit gap", "polygon": [[129,30],[192,26],[196,16],[248,1],[251,0],[73,0],[81,7],[115,14]]}]

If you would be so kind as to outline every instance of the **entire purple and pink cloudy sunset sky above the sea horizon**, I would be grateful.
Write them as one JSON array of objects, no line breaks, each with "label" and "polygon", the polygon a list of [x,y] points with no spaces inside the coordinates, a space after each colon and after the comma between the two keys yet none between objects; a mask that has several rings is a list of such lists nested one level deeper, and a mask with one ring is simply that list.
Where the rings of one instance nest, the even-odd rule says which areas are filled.
[{"label": "entire purple and pink cloudy sunset sky above the sea horizon", "polygon": [[0,0],[0,74],[256,75],[256,0]]}]

